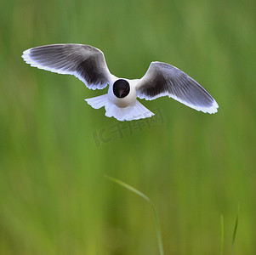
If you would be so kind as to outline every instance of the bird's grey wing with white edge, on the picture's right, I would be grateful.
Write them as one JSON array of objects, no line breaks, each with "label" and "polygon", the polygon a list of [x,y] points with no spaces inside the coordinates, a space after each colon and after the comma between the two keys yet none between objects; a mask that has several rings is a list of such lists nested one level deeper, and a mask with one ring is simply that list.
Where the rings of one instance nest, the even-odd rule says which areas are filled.
[{"label": "bird's grey wing with white edge, on the picture's right", "polygon": [[168,95],[180,103],[197,111],[215,113],[219,105],[191,77],[173,65],[162,62],[152,62],[145,76],[137,85],[140,99],[156,99]]}]

